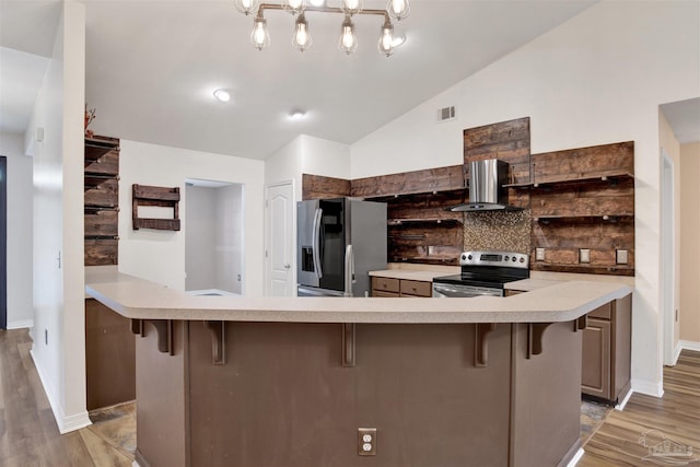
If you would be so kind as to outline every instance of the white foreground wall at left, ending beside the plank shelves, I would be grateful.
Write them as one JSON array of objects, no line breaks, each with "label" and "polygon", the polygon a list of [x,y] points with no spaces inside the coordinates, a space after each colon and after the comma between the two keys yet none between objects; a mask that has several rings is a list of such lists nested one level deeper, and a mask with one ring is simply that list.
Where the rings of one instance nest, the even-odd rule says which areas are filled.
[{"label": "white foreground wall at left, ending beside the plank shelves", "polygon": [[[83,105],[85,8],[63,3],[52,57],[27,135],[44,129],[33,157],[34,345],[32,355],[61,432],[90,424],[85,411]],[[59,260],[60,257],[60,260]]]}]

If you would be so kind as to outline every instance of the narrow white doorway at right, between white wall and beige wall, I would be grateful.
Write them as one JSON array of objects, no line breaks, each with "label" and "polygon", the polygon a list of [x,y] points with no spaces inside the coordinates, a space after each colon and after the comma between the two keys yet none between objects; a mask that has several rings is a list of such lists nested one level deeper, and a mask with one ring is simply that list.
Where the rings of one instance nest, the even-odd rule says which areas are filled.
[{"label": "narrow white doorway at right, between white wall and beige wall", "polygon": [[674,365],[676,335],[676,261],[674,227],[674,162],[664,150],[661,178],[661,277],[662,277],[662,319],[664,334],[664,364]]}]

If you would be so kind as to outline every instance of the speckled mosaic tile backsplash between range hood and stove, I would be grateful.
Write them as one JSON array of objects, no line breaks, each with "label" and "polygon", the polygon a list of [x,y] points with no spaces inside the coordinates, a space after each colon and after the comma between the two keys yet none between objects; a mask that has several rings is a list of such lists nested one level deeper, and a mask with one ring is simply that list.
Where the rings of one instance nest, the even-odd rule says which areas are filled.
[{"label": "speckled mosaic tile backsplash between range hood and stove", "polygon": [[530,210],[465,212],[465,250],[504,250],[529,254]]}]

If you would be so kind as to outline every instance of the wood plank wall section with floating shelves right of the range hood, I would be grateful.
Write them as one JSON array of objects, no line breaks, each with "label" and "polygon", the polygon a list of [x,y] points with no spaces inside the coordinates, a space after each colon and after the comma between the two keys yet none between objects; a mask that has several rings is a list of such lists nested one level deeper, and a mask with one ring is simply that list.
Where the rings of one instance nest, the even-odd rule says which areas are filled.
[{"label": "wood plank wall section with floating shelves right of the range hood", "polygon": [[[532,155],[532,270],[634,275],[634,143]],[[536,260],[536,248],[545,260]],[[580,261],[580,249],[591,261]],[[617,264],[617,250],[628,264]]]}]

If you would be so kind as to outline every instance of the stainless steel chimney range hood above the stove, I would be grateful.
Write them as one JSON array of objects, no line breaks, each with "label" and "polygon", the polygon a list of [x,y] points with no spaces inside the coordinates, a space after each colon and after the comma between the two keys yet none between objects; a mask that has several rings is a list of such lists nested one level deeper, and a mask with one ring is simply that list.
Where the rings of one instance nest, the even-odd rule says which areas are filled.
[{"label": "stainless steel chimney range hood above the stove", "polygon": [[451,206],[452,212],[520,211],[508,205],[508,163],[497,159],[469,163],[469,202]]}]

